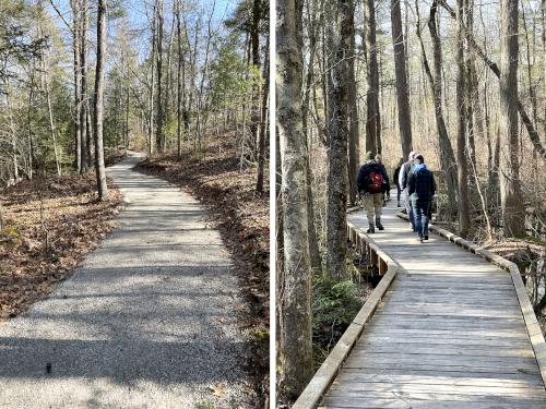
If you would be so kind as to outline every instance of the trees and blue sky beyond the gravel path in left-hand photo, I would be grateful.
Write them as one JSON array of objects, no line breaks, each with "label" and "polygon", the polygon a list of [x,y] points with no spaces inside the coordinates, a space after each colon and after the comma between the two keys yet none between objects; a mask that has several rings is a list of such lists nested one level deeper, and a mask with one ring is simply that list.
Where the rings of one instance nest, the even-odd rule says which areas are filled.
[{"label": "trees and blue sky beyond the gravel path in left-hand photo", "polygon": [[[104,148],[203,151],[232,132],[241,168],[265,163],[268,32],[262,1],[111,1]],[[97,2],[0,3],[0,183],[95,159]],[[100,98],[99,98],[100,99]]]}]

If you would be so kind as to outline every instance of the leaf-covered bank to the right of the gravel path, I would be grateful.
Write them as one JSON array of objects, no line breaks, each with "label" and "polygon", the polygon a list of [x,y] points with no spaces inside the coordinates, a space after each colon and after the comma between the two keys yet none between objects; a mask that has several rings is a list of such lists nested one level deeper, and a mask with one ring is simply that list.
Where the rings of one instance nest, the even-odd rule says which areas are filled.
[{"label": "leaf-covered bank to the right of the gravel path", "polygon": [[[226,134],[209,142],[200,153],[157,155],[138,169],[187,189],[212,215],[209,222],[219,230],[232,253],[235,272],[249,311],[240,323],[252,337],[249,365],[257,395],[269,394],[269,184],[258,194],[256,168],[240,167],[236,141]],[[259,407],[263,407],[263,401]]]}]

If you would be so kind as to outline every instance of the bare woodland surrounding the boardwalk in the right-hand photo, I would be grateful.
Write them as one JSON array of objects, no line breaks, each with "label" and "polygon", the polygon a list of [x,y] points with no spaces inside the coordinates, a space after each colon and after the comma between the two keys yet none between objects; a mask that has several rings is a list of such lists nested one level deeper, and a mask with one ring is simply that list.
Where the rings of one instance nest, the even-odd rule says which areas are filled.
[{"label": "bare woodland surrounding the boardwalk in the right-hand photo", "polygon": [[320,328],[346,325],[317,316],[354,309],[345,212],[368,151],[391,185],[423,154],[435,222],[519,263],[544,320],[544,1],[281,0],[276,13],[281,401],[312,375]]}]

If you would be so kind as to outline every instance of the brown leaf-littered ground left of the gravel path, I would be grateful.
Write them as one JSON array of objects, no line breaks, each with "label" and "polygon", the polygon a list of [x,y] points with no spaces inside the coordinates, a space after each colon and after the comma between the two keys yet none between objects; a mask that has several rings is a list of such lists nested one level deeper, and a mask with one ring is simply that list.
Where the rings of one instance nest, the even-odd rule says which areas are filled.
[{"label": "brown leaf-littered ground left of the gravel path", "polygon": [[91,253],[116,226],[121,194],[108,180],[98,202],[95,176],[22,181],[0,199],[0,322],[24,312]]}]

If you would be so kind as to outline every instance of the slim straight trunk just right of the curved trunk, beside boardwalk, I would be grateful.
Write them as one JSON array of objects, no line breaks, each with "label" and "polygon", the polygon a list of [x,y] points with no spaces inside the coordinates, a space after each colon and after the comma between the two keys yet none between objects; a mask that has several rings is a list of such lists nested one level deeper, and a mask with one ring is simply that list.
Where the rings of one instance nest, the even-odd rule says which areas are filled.
[{"label": "slim straight trunk just right of the curved trunk, beside boardwalk", "polygon": [[[464,0],[456,0],[456,17],[463,22]],[[456,175],[459,183],[459,229],[462,237],[468,234],[471,216],[468,207],[468,170],[466,168],[466,71],[464,65],[464,33],[456,28]]]}]

